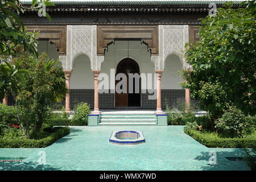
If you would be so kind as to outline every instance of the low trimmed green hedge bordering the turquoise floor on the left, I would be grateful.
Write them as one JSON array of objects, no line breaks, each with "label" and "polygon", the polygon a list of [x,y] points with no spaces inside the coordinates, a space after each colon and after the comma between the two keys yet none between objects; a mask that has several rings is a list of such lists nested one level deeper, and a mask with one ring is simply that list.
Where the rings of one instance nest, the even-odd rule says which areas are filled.
[{"label": "low trimmed green hedge bordering the turquoise floor on the left", "polygon": [[69,134],[69,127],[62,127],[55,133],[49,135],[49,137],[38,140],[0,138],[0,148],[44,148],[67,134]]}]

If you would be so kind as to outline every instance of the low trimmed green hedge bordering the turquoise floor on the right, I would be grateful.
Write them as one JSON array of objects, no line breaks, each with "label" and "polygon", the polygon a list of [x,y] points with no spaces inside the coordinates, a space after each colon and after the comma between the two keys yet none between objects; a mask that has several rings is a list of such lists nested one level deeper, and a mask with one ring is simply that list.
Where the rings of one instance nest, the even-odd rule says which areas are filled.
[{"label": "low trimmed green hedge bordering the turquoise floor on the right", "polygon": [[184,127],[184,133],[210,148],[255,148],[256,138],[212,138],[201,131]]}]

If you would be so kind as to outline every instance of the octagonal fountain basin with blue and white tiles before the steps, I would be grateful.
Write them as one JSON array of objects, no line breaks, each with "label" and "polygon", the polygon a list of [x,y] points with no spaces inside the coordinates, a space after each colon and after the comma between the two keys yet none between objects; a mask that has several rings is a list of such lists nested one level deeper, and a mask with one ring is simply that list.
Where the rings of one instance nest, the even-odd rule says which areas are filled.
[{"label": "octagonal fountain basin with blue and white tiles before the steps", "polygon": [[146,140],[142,131],[113,131],[109,138],[110,143],[114,144],[141,144]]}]

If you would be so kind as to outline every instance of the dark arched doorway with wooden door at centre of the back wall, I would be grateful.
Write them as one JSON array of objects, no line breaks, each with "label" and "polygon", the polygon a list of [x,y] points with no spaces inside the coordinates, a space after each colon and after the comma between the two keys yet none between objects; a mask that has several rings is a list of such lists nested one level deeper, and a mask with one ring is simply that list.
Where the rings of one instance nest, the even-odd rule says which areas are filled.
[{"label": "dark arched doorway with wooden door at centre of the back wall", "polygon": [[[135,78],[133,78],[133,92],[129,93],[129,73],[139,73],[139,65],[138,63],[131,59],[131,58],[125,58],[121,60],[117,65],[117,72],[118,73],[124,73],[127,78],[127,93],[117,93],[115,92],[115,107],[140,107],[141,106],[141,78],[139,78],[139,93],[136,93],[136,87],[138,85],[135,85]],[[120,80],[121,81],[121,80]],[[115,81],[115,85],[119,80]]]}]

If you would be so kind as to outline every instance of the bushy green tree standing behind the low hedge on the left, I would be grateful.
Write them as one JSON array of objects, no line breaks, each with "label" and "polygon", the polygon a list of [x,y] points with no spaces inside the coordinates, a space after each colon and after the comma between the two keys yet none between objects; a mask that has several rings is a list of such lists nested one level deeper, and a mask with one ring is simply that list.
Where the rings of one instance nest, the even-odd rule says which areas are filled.
[{"label": "bushy green tree standing behind the low hedge on the left", "polygon": [[30,73],[25,75],[26,86],[16,97],[24,133],[29,135],[29,127],[34,124],[34,132],[41,129],[44,118],[48,115],[48,106],[51,102],[64,100],[68,90],[65,85],[65,73],[62,65],[57,65],[59,60],[52,60],[43,53],[39,57],[24,53],[13,63],[22,61],[20,67]]}]

